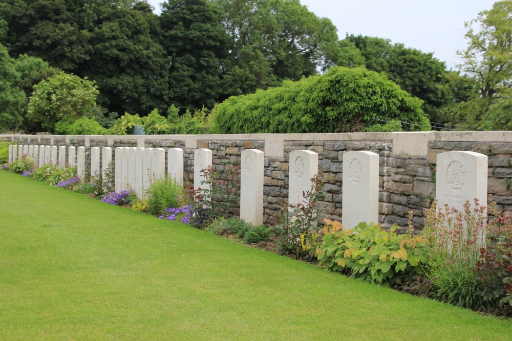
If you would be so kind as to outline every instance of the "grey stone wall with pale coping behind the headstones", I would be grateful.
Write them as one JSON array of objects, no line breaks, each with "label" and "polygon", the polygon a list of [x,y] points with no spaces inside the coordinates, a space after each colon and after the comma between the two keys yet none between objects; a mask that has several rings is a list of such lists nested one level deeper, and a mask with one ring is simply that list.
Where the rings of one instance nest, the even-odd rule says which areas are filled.
[{"label": "grey stone wall with pale coping behind the headstones", "polygon": [[[414,225],[423,226],[423,209],[436,192],[436,156],[444,151],[468,150],[488,155],[488,192],[501,211],[512,212],[512,131],[380,132],[326,134],[237,135],[126,135],[58,136],[0,135],[0,140],[29,145],[90,147],[179,147],[184,170],[193,178],[194,149],[212,150],[213,166],[220,172],[241,163],[244,149],[265,152],[264,221],[277,221],[280,202],[288,196],[289,153],[297,149],[318,153],[318,171],[325,181],[325,201],[331,219],[342,218],[343,153],[368,150],[379,154],[379,220],[385,226],[407,226],[409,211]],[[90,157],[90,156],[89,156]],[[114,153],[113,153],[114,157]],[[90,164],[90,161],[89,161]],[[87,166],[89,170],[90,167]],[[323,216],[319,217],[323,219]]]}]

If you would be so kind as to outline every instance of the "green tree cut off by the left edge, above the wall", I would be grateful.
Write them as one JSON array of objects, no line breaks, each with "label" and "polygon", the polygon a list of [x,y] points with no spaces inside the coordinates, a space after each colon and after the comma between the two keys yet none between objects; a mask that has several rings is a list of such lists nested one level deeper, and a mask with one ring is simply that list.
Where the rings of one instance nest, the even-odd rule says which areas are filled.
[{"label": "green tree cut off by the left edge, above the wall", "polygon": [[20,74],[7,48],[0,44],[0,129],[22,125],[26,102],[25,93],[18,87]]}]

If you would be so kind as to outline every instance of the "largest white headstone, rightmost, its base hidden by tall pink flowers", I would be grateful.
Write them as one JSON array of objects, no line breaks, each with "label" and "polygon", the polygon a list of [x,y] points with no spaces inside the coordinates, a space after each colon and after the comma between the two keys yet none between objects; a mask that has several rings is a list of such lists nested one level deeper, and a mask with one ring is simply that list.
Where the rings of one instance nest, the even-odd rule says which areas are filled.
[{"label": "largest white headstone, rightmost, its base hidden by tall pink flowers", "polygon": [[[464,213],[463,204],[470,201],[475,209],[475,198],[480,206],[487,206],[487,155],[473,151],[450,151],[437,155],[436,197],[438,206],[447,203]],[[485,210],[485,215],[487,210]],[[467,232],[467,226],[464,226]],[[483,231],[483,230],[482,230]],[[480,235],[480,238],[485,236]]]}]

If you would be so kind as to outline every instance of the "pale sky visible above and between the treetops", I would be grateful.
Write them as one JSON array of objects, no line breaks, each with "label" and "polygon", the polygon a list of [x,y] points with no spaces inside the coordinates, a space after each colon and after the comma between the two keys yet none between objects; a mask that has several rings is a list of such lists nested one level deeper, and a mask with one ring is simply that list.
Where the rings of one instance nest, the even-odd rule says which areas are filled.
[{"label": "pale sky visible above and between the treetops", "polygon": [[[148,0],[160,13],[162,0]],[[460,63],[457,50],[467,46],[464,21],[493,7],[490,0],[301,0],[319,17],[331,19],[340,39],[345,33],[391,39],[406,47],[433,52],[448,69]]]}]

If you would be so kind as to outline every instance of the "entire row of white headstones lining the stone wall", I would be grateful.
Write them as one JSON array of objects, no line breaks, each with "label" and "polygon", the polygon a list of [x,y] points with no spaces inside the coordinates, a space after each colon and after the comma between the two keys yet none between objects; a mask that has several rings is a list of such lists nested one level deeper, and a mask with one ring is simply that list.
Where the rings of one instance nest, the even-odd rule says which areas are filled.
[{"label": "entire row of white headstones lining the stone wall", "polygon": [[[75,165],[75,147],[68,149],[68,164]],[[112,149],[91,148],[91,176],[105,178],[112,161]],[[183,150],[181,148],[115,149],[115,190],[132,189],[142,198],[154,179],[167,173],[183,185]],[[56,146],[9,146],[9,162],[28,155],[39,161],[39,166],[57,163]],[[85,178],[84,147],[78,147],[76,166],[80,179]],[[100,168],[100,160],[101,168]],[[58,163],[65,165],[66,148],[58,148]],[[202,184],[204,170],[212,164],[209,149],[194,151],[194,188],[208,189]],[[318,173],[318,154],[308,150],[295,150],[289,154],[290,204],[306,203],[304,193],[311,189],[311,178]],[[264,153],[250,149],[242,151],[240,216],[244,221],[263,223]],[[474,205],[474,198],[485,205],[487,199],[487,156],[476,152],[451,151],[437,156],[436,197],[462,211],[466,200]],[[342,223],[352,229],[359,222],[378,222],[379,155],[370,151],[351,151],[343,154],[343,215]]]}]

